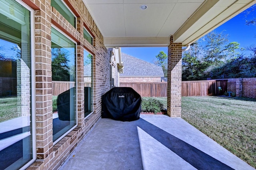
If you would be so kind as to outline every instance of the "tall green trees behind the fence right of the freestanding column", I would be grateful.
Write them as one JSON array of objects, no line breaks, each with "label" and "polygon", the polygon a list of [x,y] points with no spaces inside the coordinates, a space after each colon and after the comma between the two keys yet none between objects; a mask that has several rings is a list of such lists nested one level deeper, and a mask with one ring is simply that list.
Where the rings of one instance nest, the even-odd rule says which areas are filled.
[{"label": "tall green trees behind the fence right of the freestanding column", "polygon": [[210,32],[202,40],[182,54],[182,81],[256,77],[256,45],[242,48],[252,52],[245,56],[237,52],[238,42],[226,45],[222,32]]}]

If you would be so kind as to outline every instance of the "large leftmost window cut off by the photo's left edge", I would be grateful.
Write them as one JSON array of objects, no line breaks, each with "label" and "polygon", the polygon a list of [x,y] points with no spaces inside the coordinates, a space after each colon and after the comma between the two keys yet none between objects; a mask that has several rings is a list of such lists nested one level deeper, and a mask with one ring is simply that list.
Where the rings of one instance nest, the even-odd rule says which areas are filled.
[{"label": "large leftmost window cut off by the photo's left edge", "polygon": [[31,57],[34,16],[24,6],[15,0],[0,0],[0,169],[25,168],[35,160]]}]

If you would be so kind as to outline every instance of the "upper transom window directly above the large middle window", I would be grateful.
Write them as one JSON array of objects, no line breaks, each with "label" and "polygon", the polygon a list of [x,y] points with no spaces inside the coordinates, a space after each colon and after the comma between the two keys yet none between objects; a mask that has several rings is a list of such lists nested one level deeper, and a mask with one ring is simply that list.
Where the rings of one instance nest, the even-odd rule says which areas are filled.
[{"label": "upper transom window directly above the large middle window", "polygon": [[60,14],[74,27],[76,28],[76,17],[70,11],[70,9],[62,2],[62,0],[51,0],[51,6],[53,6]]}]

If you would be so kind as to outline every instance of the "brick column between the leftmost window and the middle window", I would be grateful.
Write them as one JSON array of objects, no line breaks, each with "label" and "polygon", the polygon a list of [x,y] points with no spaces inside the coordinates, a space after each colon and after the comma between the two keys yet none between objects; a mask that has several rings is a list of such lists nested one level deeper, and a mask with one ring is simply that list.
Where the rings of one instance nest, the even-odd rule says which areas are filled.
[{"label": "brick column between the leftmost window and the middle window", "polygon": [[[53,158],[52,141],[52,59],[50,0],[36,2],[35,66],[36,66],[36,157],[50,167]],[[33,33],[32,33],[33,34]],[[50,162],[50,163],[49,163]],[[35,163],[37,164],[37,163]]]}]

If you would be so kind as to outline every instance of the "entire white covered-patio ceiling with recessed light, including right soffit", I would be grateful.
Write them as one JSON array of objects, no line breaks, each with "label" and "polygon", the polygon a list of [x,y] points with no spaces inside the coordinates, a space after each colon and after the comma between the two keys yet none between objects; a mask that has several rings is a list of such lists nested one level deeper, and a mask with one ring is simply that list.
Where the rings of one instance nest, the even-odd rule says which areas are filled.
[{"label": "entire white covered-patio ceiling with recessed light, including right soffit", "polygon": [[[83,0],[106,47],[188,45],[256,0]],[[140,6],[148,6],[140,10]]]}]

